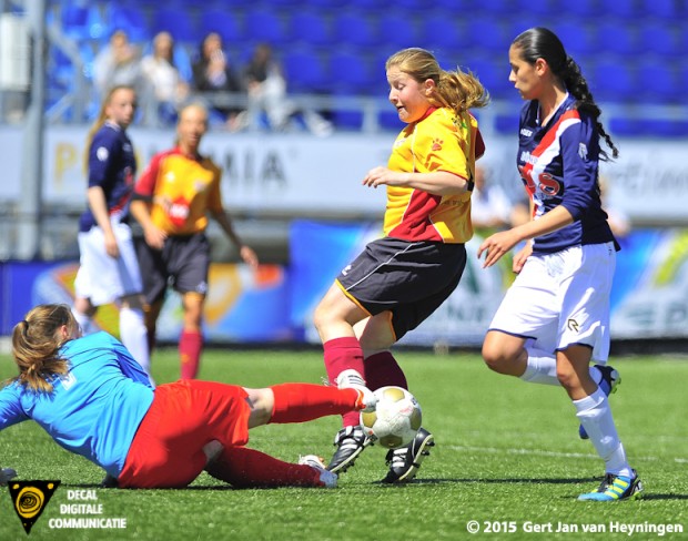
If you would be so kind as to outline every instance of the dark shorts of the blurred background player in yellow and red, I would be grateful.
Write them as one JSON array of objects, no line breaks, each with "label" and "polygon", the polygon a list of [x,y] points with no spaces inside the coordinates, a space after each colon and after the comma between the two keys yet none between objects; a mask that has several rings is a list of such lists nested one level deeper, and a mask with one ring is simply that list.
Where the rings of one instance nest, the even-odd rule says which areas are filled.
[{"label": "dark shorts of the blurred background player in yellow and red", "polygon": [[163,299],[168,285],[181,294],[208,293],[210,242],[205,234],[170,236],[162,251],[138,238],[136,255],[148,304]]}]

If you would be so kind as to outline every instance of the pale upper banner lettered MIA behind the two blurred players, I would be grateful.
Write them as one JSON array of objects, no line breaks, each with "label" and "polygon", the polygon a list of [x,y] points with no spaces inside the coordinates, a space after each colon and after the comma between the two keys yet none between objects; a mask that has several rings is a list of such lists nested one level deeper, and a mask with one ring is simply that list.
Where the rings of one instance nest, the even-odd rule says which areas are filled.
[{"label": "pale upper banner lettered MIA behind the two blurred players", "polygon": [[[173,146],[174,132],[129,130],[139,173],[158,152]],[[365,173],[385,164],[392,139],[340,135],[205,135],[201,152],[223,170],[227,208],[246,212],[380,213],[384,190],[362,186]],[[0,151],[1,152],[1,151]],[[82,127],[52,127],[45,134],[48,203],[85,205],[85,140]]]}]

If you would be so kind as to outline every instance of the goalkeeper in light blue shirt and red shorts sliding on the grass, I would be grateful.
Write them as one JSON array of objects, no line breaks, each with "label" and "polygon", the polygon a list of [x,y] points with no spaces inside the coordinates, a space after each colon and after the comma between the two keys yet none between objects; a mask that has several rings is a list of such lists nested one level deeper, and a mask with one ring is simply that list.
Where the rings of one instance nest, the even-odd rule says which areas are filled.
[{"label": "goalkeeper in light blue shirt and red shorts sliding on the grass", "polygon": [[[33,419],[121,488],[183,488],[204,470],[235,488],[332,488],[337,476],[317,457],[295,465],[249,449],[249,429],[375,406],[370,391],[311,384],[153,388],[112,336],[80,337],[65,305],[30,310],[12,330],[12,355],[19,376],[0,390],[0,430]],[[0,473],[6,482],[14,471]]]}]

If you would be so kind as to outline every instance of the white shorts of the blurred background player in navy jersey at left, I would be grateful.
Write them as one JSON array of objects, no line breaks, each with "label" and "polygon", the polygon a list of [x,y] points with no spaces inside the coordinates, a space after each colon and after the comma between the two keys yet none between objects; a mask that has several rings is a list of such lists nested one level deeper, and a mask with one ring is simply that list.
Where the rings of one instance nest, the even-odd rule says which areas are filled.
[{"label": "white shorts of the blurred background player in navy jersey at left", "polygon": [[120,257],[117,259],[105,252],[105,237],[100,227],[93,226],[87,233],[79,233],[81,257],[74,289],[78,297],[90,299],[93,306],[143,290],[131,229],[113,221],[112,231],[120,248]]}]

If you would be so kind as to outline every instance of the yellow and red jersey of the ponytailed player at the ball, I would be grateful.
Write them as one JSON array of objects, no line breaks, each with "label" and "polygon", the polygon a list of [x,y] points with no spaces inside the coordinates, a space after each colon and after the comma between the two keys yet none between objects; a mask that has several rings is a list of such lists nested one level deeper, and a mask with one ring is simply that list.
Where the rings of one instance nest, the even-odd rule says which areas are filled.
[{"label": "yellow and red jersey of the ponytailed player at the ball", "polygon": [[[473,181],[475,161],[484,152],[477,121],[469,112],[457,115],[448,108],[431,109],[399,133],[387,167],[407,173],[445,171]],[[442,196],[387,186],[384,233],[405,241],[466,243],[473,236],[471,192]]]}]

